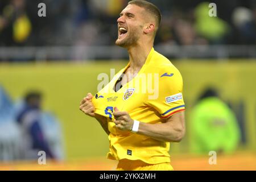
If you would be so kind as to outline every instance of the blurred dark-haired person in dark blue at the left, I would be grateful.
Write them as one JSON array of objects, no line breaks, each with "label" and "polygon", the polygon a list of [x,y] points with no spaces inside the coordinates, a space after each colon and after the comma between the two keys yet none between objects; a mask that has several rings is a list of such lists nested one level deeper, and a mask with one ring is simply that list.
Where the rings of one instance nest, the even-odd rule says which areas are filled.
[{"label": "blurred dark-haired person in dark blue at the left", "polygon": [[55,158],[44,136],[42,126],[40,126],[41,101],[42,96],[39,92],[27,93],[24,98],[24,106],[16,118],[22,129],[23,150],[26,159],[38,159],[38,151],[46,152],[47,158]]}]

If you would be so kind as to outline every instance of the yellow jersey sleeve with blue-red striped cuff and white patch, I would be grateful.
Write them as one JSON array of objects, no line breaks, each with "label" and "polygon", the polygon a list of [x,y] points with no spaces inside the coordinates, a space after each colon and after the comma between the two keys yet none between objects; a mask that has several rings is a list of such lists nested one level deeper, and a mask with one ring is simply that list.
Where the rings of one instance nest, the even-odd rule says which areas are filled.
[{"label": "yellow jersey sleeve with blue-red striped cuff and white patch", "polygon": [[[156,86],[156,85],[155,85]],[[174,65],[160,68],[158,97],[147,100],[147,105],[154,107],[162,118],[168,118],[185,110],[183,100],[183,79]]]}]

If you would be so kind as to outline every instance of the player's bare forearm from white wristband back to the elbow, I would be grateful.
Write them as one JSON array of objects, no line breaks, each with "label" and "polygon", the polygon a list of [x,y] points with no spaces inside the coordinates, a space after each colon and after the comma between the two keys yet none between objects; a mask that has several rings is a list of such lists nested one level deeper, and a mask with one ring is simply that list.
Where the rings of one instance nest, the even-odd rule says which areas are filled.
[{"label": "player's bare forearm from white wristband back to the elbow", "polygon": [[138,134],[165,142],[180,142],[184,133],[184,128],[173,127],[171,123],[150,124],[141,122],[138,130]]}]

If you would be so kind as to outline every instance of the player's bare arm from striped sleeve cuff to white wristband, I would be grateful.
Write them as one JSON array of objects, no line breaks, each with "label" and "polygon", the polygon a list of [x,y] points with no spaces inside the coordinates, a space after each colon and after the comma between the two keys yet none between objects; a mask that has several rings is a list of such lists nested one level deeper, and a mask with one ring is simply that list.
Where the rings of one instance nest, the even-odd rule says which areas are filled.
[{"label": "player's bare arm from striped sleeve cuff to white wristband", "polygon": [[160,141],[180,142],[185,135],[184,112],[176,113],[160,124],[140,122],[138,134]]}]

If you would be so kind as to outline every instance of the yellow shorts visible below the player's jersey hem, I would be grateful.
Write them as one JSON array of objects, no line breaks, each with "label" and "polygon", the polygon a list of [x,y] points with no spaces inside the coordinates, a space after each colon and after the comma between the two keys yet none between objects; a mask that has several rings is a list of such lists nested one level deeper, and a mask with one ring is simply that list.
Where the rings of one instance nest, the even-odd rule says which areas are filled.
[{"label": "yellow shorts visible below the player's jersey hem", "polygon": [[173,171],[170,163],[147,164],[141,160],[122,159],[117,165],[117,171]]}]

